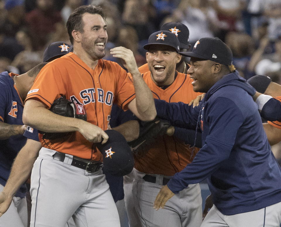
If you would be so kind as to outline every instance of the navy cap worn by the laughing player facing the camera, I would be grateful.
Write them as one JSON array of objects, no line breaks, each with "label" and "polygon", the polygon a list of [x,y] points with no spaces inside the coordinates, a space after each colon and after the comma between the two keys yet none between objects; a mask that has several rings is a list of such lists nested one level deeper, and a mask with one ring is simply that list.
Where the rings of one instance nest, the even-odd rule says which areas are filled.
[{"label": "navy cap worn by the laughing player facing the camera", "polygon": [[151,45],[155,44],[161,44],[161,45],[166,45],[169,47],[173,47],[177,53],[179,53],[179,39],[177,36],[169,31],[158,31],[152,33],[149,38],[148,38],[148,44],[145,44],[143,46],[143,49],[149,50]]}]

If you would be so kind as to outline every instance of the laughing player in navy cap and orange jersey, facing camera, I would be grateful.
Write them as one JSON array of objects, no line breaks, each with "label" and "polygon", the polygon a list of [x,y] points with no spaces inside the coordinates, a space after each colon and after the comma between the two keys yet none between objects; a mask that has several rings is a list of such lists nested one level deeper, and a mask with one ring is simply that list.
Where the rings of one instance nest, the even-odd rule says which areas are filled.
[{"label": "laughing player in navy cap and orange jersey, facing camera", "polygon": [[[181,56],[178,54],[179,40],[172,32],[162,30],[153,33],[144,49],[148,50],[146,59],[150,72],[144,73],[143,79],[155,99],[189,103],[201,94],[193,91],[192,81],[187,74],[175,71]],[[162,185],[191,163],[198,150],[174,136],[165,135],[143,156],[135,155],[135,169],[124,180],[129,219],[133,209],[128,209],[130,192],[126,189],[129,188],[126,182],[130,182],[128,178],[131,177],[134,178],[134,206],[142,226],[200,226],[202,198],[199,184],[189,185],[167,204],[166,209],[160,212],[153,209],[155,196]],[[133,224],[136,226],[136,223]]]}]

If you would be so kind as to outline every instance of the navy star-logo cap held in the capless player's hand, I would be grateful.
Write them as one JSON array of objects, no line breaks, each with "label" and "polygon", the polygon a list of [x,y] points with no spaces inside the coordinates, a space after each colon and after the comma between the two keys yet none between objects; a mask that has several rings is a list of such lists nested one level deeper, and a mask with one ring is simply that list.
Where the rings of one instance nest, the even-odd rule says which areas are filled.
[{"label": "navy star-logo cap held in the capless player's hand", "polygon": [[125,137],[115,130],[105,130],[108,140],[96,144],[103,156],[103,168],[113,176],[125,176],[133,170],[134,158]]}]

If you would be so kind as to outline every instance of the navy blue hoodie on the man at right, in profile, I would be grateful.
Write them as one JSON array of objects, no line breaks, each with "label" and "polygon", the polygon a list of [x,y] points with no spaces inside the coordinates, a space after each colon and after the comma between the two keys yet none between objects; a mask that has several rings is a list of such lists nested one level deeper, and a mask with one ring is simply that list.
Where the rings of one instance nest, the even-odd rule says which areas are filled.
[{"label": "navy blue hoodie on the man at right, in profile", "polygon": [[167,186],[174,193],[207,178],[213,202],[225,215],[281,201],[281,171],[271,152],[255,90],[237,71],[225,75],[199,106],[155,100],[157,115],[174,125],[200,123],[202,148]]}]

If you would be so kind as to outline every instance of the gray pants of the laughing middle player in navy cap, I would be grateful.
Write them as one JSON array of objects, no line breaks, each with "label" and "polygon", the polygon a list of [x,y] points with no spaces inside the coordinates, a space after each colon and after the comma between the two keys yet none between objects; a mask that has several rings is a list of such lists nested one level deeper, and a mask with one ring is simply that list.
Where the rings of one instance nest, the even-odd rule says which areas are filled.
[{"label": "gray pants of the laughing middle player in navy cap", "polygon": [[154,200],[162,188],[163,177],[153,175],[156,183],[143,179],[145,173],[134,170],[133,198],[136,211],[143,227],[199,227],[202,223],[202,197],[199,184],[189,185],[186,189],[170,198],[163,209],[153,209]]}]

